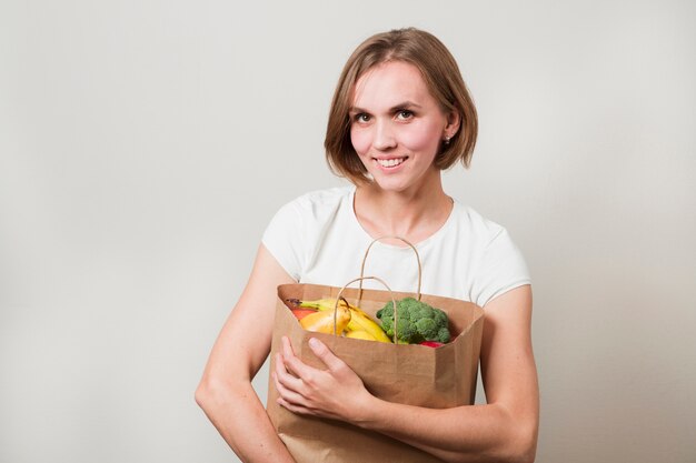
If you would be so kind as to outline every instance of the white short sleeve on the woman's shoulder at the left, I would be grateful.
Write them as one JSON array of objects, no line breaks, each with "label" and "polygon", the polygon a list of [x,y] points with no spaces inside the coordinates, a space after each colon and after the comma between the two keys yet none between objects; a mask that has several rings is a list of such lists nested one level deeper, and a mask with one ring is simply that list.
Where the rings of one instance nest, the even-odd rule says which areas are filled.
[{"label": "white short sleeve on the woman's shoulder at the left", "polygon": [[290,276],[299,281],[302,274],[304,240],[302,209],[297,201],[285,204],[276,212],[264,231],[264,246]]}]

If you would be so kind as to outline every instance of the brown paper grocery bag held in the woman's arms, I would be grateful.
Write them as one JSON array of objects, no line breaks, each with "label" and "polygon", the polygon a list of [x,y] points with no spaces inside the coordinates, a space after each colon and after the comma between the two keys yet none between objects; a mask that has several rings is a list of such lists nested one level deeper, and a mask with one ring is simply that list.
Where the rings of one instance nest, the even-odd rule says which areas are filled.
[{"label": "brown paper grocery bag held in the woman's arms", "polygon": [[[480,351],[484,312],[470,302],[435,295],[421,301],[444,310],[453,340],[432,349],[422,345],[387,344],[305,331],[290,311],[288,299],[316,300],[337,298],[340,288],[315,284],[278,286],[276,323],[271,345],[271,371],[280,338],[287,335],[296,354],[305,363],[326,369],[307,342],[317,338],[344,360],[376,396],[390,402],[445,409],[473,404]],[[361,296],[360,295],[361,292]],[[391,295],[399,300],[414,296],[377,290],[345,289],[341,295],[360,306],[372,319]],[[276,431],[298,463],[422,463],[439,459],[384,434],[365,431],[347,423],[297,415],[276,403],[278,392],[272,381],[268,387],[267,410]]]}]

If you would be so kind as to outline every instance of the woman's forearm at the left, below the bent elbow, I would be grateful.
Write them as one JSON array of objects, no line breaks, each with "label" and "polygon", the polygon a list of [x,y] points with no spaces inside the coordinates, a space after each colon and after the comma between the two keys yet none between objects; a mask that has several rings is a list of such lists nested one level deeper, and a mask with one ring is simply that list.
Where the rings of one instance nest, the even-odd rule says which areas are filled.
[{"label": "woman's forearm at the left, below the bent elbow", "polygon": [[203,382],[196,401],[241,461],[295,463],[249,382]]}]

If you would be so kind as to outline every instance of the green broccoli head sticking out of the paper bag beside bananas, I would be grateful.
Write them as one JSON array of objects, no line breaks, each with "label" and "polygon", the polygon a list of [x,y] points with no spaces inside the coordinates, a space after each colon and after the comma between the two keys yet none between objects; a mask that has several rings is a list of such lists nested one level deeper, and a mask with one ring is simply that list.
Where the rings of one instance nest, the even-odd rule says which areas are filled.
[{"label": "green broccoli head sticking out of the paper bag beside bananas", "polygon": [[[397,305],[397,341],[400,344],[418,344],[424,341],[449,342],[447,314],[414,298],[404,298]],[[394,336],[394,304],[387,302],[377,311],[381,328]]]}]

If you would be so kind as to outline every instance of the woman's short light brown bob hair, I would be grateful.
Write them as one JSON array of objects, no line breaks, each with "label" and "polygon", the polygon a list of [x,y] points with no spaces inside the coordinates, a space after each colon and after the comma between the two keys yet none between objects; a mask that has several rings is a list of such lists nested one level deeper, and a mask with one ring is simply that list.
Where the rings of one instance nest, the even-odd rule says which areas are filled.
[{"label": "woman's short light brown bob hair", "polygon": [[461,161],[471,162],[478,119],[476,107],[464,83],[457,61],[443,42],[429,32],[405,28],[377,33],[352,52],[338,79],[327,123],[326,159],[334,173],[351,182],[369,182],[367,170],[350,141],[349,110],[358,79],[368,70],[388,61],[402,61],[418,68],[422,79],[443,112],[459,113],[460,125],[449,143],[441,143],[435,158],[440,170]]}]

